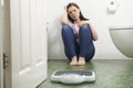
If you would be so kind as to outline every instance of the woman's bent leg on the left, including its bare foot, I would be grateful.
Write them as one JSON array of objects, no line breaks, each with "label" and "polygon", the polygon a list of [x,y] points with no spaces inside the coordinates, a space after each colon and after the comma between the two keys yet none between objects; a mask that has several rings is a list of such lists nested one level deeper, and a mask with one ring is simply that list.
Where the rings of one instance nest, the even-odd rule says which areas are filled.
[{"label": "woman's bent leg on the left, including its bare foot", "polygon": [[62,40],[64,44],[64,53],[66,57],[71,61],[70,65],[76,65],[76,46],[75,46],[75,35],[70,25],[62,26]]}]

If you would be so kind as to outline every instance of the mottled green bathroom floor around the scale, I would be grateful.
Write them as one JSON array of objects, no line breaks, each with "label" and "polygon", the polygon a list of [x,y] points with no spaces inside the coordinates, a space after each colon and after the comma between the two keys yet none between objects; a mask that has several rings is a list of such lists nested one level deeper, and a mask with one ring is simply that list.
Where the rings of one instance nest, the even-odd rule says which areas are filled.
[{"label": "mottled green bathroom floor around the scale", "polygon": [[[51,82],[54,70],[94,70],[95,82],[63,85]],[[48,63],[48,79],[38,88],[133,88],[133,59],[93,59],[85,66],[70,66],[68,61],[51,59]]]}]

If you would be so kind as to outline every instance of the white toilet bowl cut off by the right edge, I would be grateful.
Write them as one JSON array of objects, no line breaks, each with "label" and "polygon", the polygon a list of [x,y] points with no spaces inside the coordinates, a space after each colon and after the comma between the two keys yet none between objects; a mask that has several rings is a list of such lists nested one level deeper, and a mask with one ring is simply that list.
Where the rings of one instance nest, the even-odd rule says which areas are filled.
[{"label": "white toilet bowl cut off by the right edge", "polygon": [[133,26],[110,28],[111,38],[116,48],[127,57],[133,57]]}]

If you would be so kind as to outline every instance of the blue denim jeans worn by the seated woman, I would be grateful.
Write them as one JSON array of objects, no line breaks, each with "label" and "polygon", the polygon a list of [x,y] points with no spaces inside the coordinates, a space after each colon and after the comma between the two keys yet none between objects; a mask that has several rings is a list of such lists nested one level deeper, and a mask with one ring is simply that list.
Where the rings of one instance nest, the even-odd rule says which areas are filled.
[{"label": "blue denim jeans worn by the seated woman", "polygon": [[71,61],[73,56],[84,57],[90,61],[95,53],[92,33],[89,24],[83,24],[79,30],[80,43],[76,42],[76,36],[69,24],[62,26],[62,40],[64,44],[64,53]]}]

